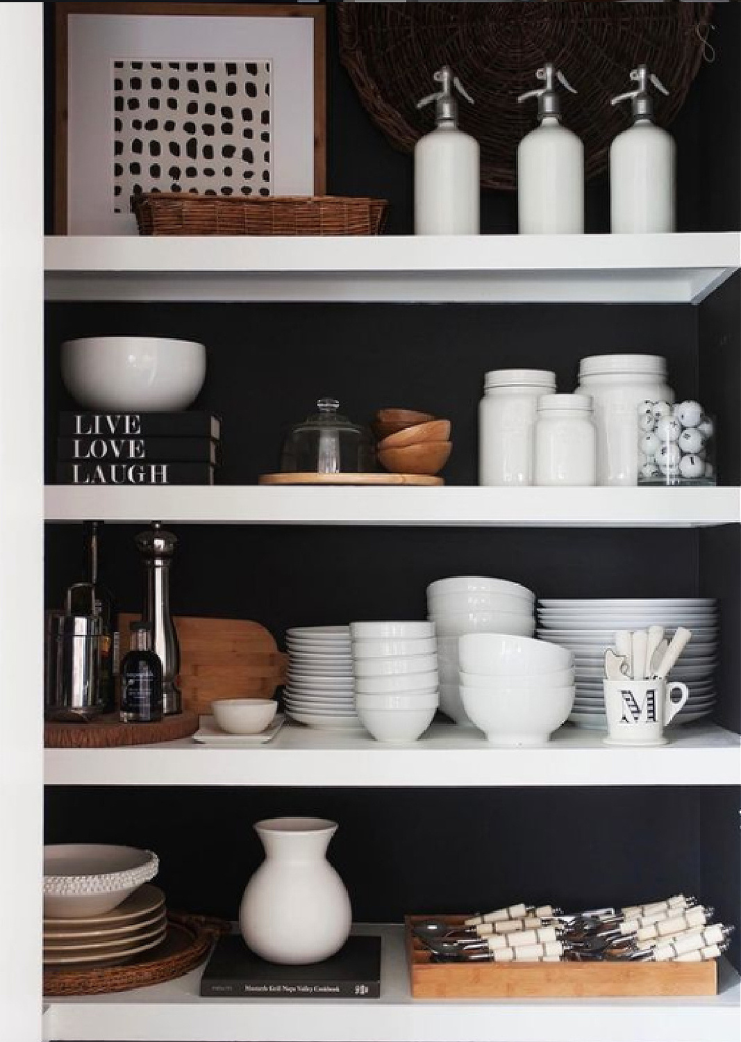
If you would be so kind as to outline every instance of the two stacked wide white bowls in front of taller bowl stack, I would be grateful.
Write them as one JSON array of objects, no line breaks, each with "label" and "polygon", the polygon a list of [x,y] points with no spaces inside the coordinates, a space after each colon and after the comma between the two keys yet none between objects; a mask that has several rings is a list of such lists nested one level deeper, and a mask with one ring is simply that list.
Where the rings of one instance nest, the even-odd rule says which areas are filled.
[{"label": "two stacked wide white bowls in front of taller bowl stack", "polygon": [[574,671],[566,648],[528,637],[468,634],[460,649],[464,709],[492,745],[543,745],[568,719]]}]

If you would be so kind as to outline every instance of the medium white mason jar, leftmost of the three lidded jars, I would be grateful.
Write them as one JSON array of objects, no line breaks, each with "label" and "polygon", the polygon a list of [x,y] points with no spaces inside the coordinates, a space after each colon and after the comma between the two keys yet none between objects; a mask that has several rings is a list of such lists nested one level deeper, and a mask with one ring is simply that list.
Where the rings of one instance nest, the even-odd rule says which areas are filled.
[{"label": "medium white mason jar, leftmost of the three lidded jars", "polygon": [[555,391],[555,373],[495,369],[486,374],[478,406],[478,483],[535,482],[538,399]]}]

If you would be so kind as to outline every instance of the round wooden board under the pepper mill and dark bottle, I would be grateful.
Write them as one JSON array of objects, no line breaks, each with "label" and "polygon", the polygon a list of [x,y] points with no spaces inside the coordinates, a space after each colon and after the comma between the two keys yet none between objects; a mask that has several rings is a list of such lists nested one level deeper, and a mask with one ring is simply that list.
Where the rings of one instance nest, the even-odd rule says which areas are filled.
[{"label": "round wooden board under the pepper mill and dark bottle", "polygon": [[90,723],[45,723],[47,749],[105,749],[121,745],[154,745],[188,738],[198,730],[197,713],[178,713],[158,723],[122,723],[115,715]]}]

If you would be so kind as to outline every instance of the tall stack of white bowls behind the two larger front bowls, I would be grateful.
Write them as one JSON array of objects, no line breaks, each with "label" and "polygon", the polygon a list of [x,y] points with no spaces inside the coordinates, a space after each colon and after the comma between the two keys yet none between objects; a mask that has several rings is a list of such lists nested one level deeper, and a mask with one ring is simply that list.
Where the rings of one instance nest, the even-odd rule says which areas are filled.
[{"label": "tall stack of white bowls behind the two larger front bowls", "polygon": [[464,634],[535,632],[535,594],[519,582],[480,575],[437,579],[427,587],[427,618],[435,622],[440,658],[440,709],[470,726],[461,699],[458,642]]}]

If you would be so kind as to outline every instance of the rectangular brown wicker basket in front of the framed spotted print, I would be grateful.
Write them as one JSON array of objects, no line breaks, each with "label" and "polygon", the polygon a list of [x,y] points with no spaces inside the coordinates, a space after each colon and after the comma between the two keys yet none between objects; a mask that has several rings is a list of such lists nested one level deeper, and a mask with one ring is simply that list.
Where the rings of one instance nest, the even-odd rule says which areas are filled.
[{"label": "rectangular brown wicker basket in front of the framed spotted print", "polygon": [[131,197],[140,235],[377,235],[385,199],[146,192]]}]

